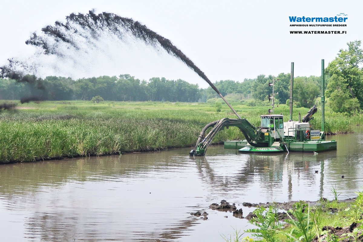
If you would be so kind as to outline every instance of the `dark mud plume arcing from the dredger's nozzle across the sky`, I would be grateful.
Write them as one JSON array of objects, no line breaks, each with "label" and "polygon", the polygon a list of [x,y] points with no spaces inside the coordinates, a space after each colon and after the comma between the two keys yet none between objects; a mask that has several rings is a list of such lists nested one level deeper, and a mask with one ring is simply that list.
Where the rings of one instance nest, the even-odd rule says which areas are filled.
[{"label": "dark mud plume arcing from the dredger's nozzle across the sky", "polygon": [[[170,40],[160,36],[156,32],[150,30],[138,21],[115,15],[114,13],[102,12],[96,14],[89,11],[87,14],[72,13],[66,17],[66,22],[56,21],[54,25],[48,25],[41,30],[40,34],[33,35],[25,43],[27,45],[36,46],[40,52],[39,55],[56,57],[58,62],[53,65],[53,69],[61,68],[59,62],[61,60],[70,62],[69,65],[74,66],[77,63],[75,57],[69,56],[68,52],[91,52],[93,49],[98,50],[100,41],[105,39],[117,38],[126,45],[134,45],[136,41],[142,41],[147,46],[151,46],[156,50],[164,50],[168,54],[178,58],[191,68],[199,77],[204,79],[220,96],[220,92],[212,84],[207,76],[201,71],[180,49],[176,48]],[[106,39],[107,39],[106,38]],[[120,57],[122,58],[122,57]],[[34,61],[14,61],[9,60],[9,65],[0,67],[3,76],[16,77],[11,73],[31,73],[38,76],[38,69],[42,63],[34,63]],[[68,71],[68,70],[67,70]],[[22,77],[21,77],[22,78]],[[19,80],[19,78],[15,78]],[[228,104],[228,102],[223,98]],[[236,111],[228,104],[232,111],[238,116]],[[239,116],[238,116],[239,117]]]}]

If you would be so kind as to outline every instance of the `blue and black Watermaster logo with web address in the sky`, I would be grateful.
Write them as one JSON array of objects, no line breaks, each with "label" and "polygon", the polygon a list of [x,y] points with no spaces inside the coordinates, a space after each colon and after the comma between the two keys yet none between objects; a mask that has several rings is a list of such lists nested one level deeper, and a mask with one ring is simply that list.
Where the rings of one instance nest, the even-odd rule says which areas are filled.
[{"label": "blue and black Watermaster logo with web address in the sky", "polygon": [[290,34],[346,34],[347,31],[344,28],[322,30],[316,27],[347,27],[347,20],[346,13],[339,13],[333,17],[289,16],[290,27],[315,27],[307,30],[290,30]]}]

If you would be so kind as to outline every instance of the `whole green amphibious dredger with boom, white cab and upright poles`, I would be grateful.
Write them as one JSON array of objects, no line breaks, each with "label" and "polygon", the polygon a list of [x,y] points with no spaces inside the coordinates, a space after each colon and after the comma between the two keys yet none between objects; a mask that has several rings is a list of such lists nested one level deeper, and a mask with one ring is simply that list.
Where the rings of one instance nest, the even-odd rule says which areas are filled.
[{"label": "whole green amphibious dredger with boom, white cab and upright poles", "polygon": [[[294,62],[291,62],[290,79],[290,120],[284,122],[282,114],[261,115],[261,126],[255,127],[246,119],[223,118],[207,124],[197,139],[195,149],[189,152],[190,156],[204,156],[209,144],[218,131],[231,126],[238,127],[244,134],[246,140],[224,141],[224,148],[238,149],[240,153],[279,153],[279,152],[323,152],[337,149],[337,141],[325,140],[324,133],[324,60],[322,60],[322,127],[321,130],[311,127],[309,121],[317,112],[314,105],[303,117],[302,122],[292,120],[293,110],[293,82],[294,82]],[[272,84],[273,86],[273,84]],[[272,107],[274,106],[272,94]],[[269,110],[269,113],[273,110]],[[205,135],[205,131],[212,127],[211,131]]]}]

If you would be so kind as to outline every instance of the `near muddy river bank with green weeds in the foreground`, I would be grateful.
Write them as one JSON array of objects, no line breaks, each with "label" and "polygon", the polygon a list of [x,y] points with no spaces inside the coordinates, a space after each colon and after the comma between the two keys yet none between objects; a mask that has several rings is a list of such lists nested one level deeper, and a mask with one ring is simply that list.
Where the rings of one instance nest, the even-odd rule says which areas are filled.
[{"label": "near muddy river bank with green weeds in the foreground", "polygon": [[[233,217],[246,219],[256,226],[244,232],[236,231],[233,239],[224,237],[225,241],[362,241],[363,193],[338,200],[337,191],[333,192],[335,199],[331,201],[320,198],[318,201],[243,202],[243,207],[255,208],[248,214],[243,214],[243,207],[238,209],[235,203],[231,205],[225,200],[209,208],[233,213]],[[251,233],[252,238],[243,236],[244,233]]]}]

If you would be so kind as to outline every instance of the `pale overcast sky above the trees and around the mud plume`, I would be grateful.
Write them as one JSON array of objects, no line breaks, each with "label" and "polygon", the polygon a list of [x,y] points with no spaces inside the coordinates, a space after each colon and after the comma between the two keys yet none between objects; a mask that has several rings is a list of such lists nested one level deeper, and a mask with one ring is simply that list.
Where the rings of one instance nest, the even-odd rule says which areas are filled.
[{"label": "pale overcast sky above the trees and around the mud plume", "polygon": [[[170,39],[212,82],[289,73],[291,62],[295,62],[295,76],[320,75],[321,59],[327,65],[339,49],[346,49],[347,42],[363,40],[362,7],[360,0],[0,0],[0,65],[29,52],[25,41],[34,31],[56,20],[64,22],[72,12],[87,13],[94,8],[96,13],[112,12],[140,21]],[[347,27],[289,27],[289,16],[334,17],[339,13],[348,15]],[[290,30],[346,30],[347,34],[303,35],[290,34]],[[171,71],[158,77],[208,86],[192,71],[180,70],[183,74]],[[152,77],[143,69],[123,73]]]}]

